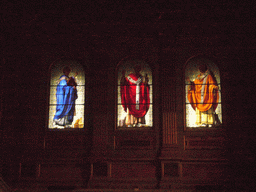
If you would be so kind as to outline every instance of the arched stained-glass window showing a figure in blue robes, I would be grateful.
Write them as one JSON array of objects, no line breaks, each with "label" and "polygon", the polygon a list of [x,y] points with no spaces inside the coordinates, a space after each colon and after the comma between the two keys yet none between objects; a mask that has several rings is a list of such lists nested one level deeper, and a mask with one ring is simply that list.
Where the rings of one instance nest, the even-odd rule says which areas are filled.
[{"label": "arched stained-glass window showing a figure in blue robes", "polygon": [[58,60],[50,70],[49,129],[84,128],[85,73],[75,60]]}]

